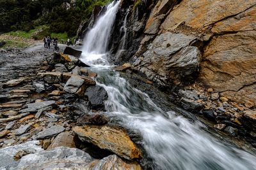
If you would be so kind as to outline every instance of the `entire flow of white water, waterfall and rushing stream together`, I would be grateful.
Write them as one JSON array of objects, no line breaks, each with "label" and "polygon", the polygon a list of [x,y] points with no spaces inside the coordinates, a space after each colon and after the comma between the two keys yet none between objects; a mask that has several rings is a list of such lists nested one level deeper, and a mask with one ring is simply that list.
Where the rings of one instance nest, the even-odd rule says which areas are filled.
[{"label": "entire flow of white water, waterfall and rushing stream together", "polygon": [[[116,10],[116,5],[118,6],[118,3],[110,4],[108,11],[114,11],[114,8]],[[94,30],[100,30],[100,21],[112,20],[108,17],[115,18],[109,15],[108,11],[102,16],[104,20],[95,24]],[[92,33],[89,32],[88,36],[90,34]],[[108,36],[101,33],[100,35],[107,41]],[[83,60],[88,61],[93,53],[107,53],[106,46],[93,49],[89,44],[97,44],[98,39],[84,41],[83,52],[87,55],[84,55]],[[88,49],[92,53],[88,53]],[[200,129],[200,122],[191,123],[173,111],[161,110],[147,94],[132,87],[120,74],[113,71],[111,66],[94,65],[91,69],[99,75],[97,84],[108,92],[109,98],[105,103],[107,111],[104,114],[117,117],[125,127],[140,132],[143,136],[143,147],[152,158],[154,169],[256,169],[254,155],[213,138]]]}]

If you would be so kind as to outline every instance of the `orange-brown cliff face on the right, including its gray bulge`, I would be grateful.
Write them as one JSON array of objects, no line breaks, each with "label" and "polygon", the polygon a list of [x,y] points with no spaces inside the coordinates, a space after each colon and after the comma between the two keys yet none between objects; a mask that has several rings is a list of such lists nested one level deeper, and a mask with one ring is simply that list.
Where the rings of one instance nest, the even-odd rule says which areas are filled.
[{"label": "orange-brown cliff face on the right, including its gray bulge", "polygon": [[133,65],[161,85],[195,80],[256,104],[255,21],[255,0],[158,1]]}]

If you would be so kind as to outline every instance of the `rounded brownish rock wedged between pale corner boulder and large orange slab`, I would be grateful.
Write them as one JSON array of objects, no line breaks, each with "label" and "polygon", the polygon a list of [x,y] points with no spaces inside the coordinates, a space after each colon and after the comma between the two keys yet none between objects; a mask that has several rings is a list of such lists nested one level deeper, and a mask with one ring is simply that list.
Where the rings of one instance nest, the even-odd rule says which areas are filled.
[{"label": "rounded brownish rock wedged between pale corner boulder and large orange slab", "polygon": [[52,141],[51,145],[47,148],[47,150],[51,150],[56,147],[68,147],[68,148],[76,148],[76,144],[74,141],[74,136],[72,136],[68,132],[62,132],[56,136],[56,138]]}]

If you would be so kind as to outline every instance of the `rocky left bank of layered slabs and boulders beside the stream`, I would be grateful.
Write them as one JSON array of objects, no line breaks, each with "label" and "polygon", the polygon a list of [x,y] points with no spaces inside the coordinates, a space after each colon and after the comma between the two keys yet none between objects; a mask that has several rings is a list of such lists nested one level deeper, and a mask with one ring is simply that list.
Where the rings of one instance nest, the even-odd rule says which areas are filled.
[{"label": "rocky left bank of layered slabs and boulders beside the stream", "polygon": [[108,94],[97,73],[63,50],[1,49],[1,167],[141,169],[140,148],[100,115]]}]

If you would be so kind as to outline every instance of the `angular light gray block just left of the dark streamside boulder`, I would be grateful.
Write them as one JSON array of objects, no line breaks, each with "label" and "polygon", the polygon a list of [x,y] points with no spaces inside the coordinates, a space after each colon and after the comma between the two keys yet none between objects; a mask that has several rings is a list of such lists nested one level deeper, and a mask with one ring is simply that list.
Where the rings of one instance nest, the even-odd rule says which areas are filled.
[{"label": "angular light gray block just left of the dark streamside boulder", "polygon": [[68,93],[76,94],[77,90],[84,84],[84,80],[77,76],[71,76],[63,90]]}]

